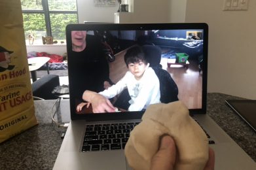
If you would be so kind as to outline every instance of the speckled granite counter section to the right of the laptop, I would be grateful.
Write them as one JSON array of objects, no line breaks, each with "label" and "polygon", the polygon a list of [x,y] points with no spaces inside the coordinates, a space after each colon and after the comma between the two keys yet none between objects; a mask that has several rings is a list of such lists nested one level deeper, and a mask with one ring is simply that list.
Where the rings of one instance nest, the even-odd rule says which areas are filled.
[{"label": "speckled granite counter section to the right of the laptop", "polygon": [[242,99],[222,93],[208,93],[209,116],[256,161],[256,133],[225,103],[226,99]]}]

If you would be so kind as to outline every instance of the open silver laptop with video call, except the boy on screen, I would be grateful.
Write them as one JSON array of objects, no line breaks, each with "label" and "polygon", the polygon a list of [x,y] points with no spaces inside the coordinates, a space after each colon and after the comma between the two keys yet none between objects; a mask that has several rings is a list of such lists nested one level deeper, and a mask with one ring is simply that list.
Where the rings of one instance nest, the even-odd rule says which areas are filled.
[{"label": "open silver laptop with video call, except the boy on screen", "polygon": [[[77,36],[80,46],[73,45],[72,36],[76,31],[81,34]],[[82,34],[86,34],[86,48],[91,50],[81,55],[81,50],[75,48],[82,47]],[[189,37],[191,34],[194,39]],[[80,109],[78,106],[86,102],[81,99],[84,90],[97,92],[102,88],[102,81],[97,82],[101,76],[109,76],[108,80],[116,84],[126,74],[124,54],[137,45],[158,46],[162,54],[170,54],[162,55],[160,64],[177,84],[179,100],[187,105],[191,116],[207,131],[210,146],[215,150],[215,169],[255,169],[255,162],[206,114],[207,24],[71,24],[66,27],[66,37],[71,122],[54,169],[130,169],[123,148],[128,132],[139,124],[145,110],[118,108],[115,112],[93,113],[91,105]],[[96,52],[95,49],[92,52],[93,48]],[[175,53],[189,56],[188,67],[168,65],[168,59],[175,59]],[[101,54],[104,61],[100,61]],[[107,66],[102,64],[105,60]],[[96,68],[102,70],[105,67],[105,71],[95,76]],[[187,88],[188,84],[190,88]],[[109,101],[114,103],[115,99]],[[97,129],[101,132],[94,132]],[[113,135],[113,131],[119,135]],[[99,133],[101,136],[96,137]]]}]

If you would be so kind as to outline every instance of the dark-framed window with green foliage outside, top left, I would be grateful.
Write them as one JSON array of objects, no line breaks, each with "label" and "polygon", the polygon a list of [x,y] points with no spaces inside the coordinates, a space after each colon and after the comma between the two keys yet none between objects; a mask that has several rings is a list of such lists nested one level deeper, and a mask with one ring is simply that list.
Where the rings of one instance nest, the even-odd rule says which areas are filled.
[{"label": "dark-framed window with green foliage outside, top left", "polygon": [[[53,37],[54,43],[65,43],[65,26],[78,23],[76,0],[20,1],[26,44],[43,44],[46,36]],[[30,41],[29,35],[33,35]]]}]

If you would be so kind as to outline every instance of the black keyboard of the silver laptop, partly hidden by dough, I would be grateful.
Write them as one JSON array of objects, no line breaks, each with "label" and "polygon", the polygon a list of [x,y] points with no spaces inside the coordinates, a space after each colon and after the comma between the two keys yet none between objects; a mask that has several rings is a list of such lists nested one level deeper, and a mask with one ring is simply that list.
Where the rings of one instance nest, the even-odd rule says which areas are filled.
[{"label": "black keyboard of the silver laptop, partly hidden by dough", "polygon": [[[195,121],[198,123],[197,120]],[[137,124],[139,124],[139,122],[86,125],[82,152],[124,149],[130,137],[130,131],[132,131]],[[215,144],[213,140],[210,140],[210,135],[206,130],[203,127],[202,129],[209,139],[209,144]]]}]

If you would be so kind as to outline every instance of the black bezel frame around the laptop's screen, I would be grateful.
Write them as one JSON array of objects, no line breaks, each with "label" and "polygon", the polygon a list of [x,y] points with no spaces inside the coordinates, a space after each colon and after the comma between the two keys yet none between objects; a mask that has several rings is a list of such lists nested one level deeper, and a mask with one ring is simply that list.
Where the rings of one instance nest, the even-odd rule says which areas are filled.
[{"label": "black bezel frame around the laptop's screen", "polygon": [[[69,24],[66,27],[66,39],[67,39],[67,56],[72,50],[71,43],[71,31],[84,31],[84,30],[153,30],[153,29],[202,29],[204,31],[204,45],[203,56],[204,62],[202,67],[202,109],[189,109],[190,114],[206,114],[206,100],[207,100],[207,71],[208,71],[208,25],[206,23],[179,23],[179,24]],[[67,65],[70,65],[67,62]],[[70,69],[68,69],[68,75],[71,75]],[[114,112],[111,114],[77,114],[75,112],[75,99],[72,98],[72,82],[69,76],[69,92],[70,93],[70,112],[71,120],[126,120],[126,119],[140,119],[143,115],[143,111],[138,112]]]}]

